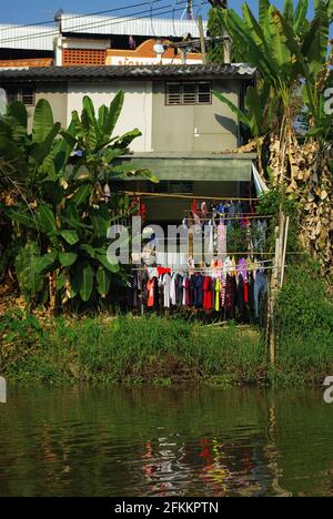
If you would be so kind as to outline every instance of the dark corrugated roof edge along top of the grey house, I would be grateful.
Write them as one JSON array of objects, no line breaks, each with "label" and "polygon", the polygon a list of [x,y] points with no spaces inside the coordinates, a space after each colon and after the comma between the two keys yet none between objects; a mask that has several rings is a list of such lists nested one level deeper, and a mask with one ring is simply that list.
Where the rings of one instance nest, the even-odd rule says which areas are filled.
[{"label": "dark corrugated roof edge along top of the grey house", "polygon": [[124,65],[124,67],[43,67],[28,70],[0,70],[0,82],[10,81],[84,81],[103,79],[154,79],[154,78],[253,78],[255,69],[232,63],[189,65]]}]

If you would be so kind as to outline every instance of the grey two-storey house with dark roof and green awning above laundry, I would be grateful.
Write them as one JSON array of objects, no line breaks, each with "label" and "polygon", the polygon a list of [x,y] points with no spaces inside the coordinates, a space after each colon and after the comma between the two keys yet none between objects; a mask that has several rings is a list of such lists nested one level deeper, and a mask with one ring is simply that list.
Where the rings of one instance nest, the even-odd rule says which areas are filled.
[{"label": "grey two-storey house with dark roof and green awning above laundry", "polygon": [[254,156],[225,153],[243,144],[245,135],[236,115],[213,90],[242,109],[254,73],[245,64],[48,67],[0,71],[0,88],[10,99],[26,102],[30,121],[34,104],[47,99],[64,128],[72,111],[81,110],[84,95],[98,109],[123,90],[125,102],[115,134],[138,128],[142,136],[122,162],[149,167],[161,181],[158,185],[127,181],[125,189],[184,195],[147,200],[149,220],[178,223],[189,210],[185,195],[198,200],[249,196]]}]

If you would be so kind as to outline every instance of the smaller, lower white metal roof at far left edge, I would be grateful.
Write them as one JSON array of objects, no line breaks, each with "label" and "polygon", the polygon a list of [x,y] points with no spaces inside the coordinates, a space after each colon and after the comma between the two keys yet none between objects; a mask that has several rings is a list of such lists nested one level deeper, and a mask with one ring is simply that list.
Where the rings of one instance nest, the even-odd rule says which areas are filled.
[{"label": "smaller, lower white metal roof at far left edge", "polygon": [[57,33],[56,27],[0,26],[0,48],[52,51]]}]

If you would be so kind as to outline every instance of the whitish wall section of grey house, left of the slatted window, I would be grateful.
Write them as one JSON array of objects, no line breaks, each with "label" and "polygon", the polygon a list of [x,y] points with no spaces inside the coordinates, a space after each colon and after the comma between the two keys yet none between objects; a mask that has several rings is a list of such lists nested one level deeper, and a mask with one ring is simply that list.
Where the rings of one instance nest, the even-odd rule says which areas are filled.
[{"label": "whitish wall section of grey house, left of the slatted window", "polygon": [[89,95],[98,110],[102,104],[110,105],[112,99],[123,90],[124,106],[115,126],[114,135],[121,135],[134,128],[142,136],[131,144],[134,152],[150,152],[152,141],[152,83],[151,81],[117,81],[108,83],[75,83],[68,88],[67,120],[70,122],[73,110],[82,110],[82,99]]}]

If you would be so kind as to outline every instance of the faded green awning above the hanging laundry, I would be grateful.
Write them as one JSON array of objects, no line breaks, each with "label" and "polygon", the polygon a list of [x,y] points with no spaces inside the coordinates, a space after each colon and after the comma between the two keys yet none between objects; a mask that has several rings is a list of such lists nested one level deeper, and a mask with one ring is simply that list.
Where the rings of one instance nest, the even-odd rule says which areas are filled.
[{"label": "faded green awning above the hanging laundry", "polygon": [[118,164],[150,170],[161,181],[251,182],[254,154],[172,155],[143,153],[120,157]]}]

